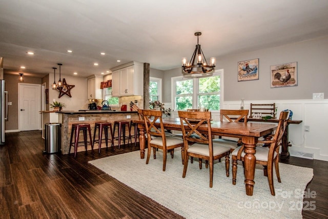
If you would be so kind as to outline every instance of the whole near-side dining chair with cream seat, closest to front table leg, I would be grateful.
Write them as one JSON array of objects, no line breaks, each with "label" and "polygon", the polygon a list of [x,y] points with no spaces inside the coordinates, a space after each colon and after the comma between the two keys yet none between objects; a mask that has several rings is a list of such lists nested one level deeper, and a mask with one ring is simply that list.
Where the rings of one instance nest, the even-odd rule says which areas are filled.
[{"label": "whole near-side dining chair with cream seat, closest to front table leg", "polygon": [[[178,111],[178,115],[185,147],[182,177],[186,177],[189,156],[209,161],[210,188],[212,188],[214,160],[226,157],[226,175],[229,177],[230,148],[212,144],[211,112]],[[200,138],[193,137],[193,134],[197,134]]]}]

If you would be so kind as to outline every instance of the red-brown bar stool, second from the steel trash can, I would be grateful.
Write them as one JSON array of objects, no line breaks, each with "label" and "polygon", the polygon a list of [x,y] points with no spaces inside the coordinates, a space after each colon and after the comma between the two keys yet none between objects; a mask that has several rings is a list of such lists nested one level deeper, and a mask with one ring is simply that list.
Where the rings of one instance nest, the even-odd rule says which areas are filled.
[{"label": "red-brown bar stool, second from the steel trash can", "polygon": [[[112,123],[110,122],[98,122],[95,123],[94,125],[94,133],[93,133],[93,145],[95,142],[98,143],[98,153],[100,153],[101,150],[101,141],[103,141],[103,129],[105,130],[105,142],[106,142],[106,150],[108,150],[108,127],[110,129],[110,134],[111,134],[111,138],[110,138],[110,142],[112,143],[111,147],[112,147],[112,151],[115,151],[115,147],[114,147],[114,138],[113,138],[113,130],[112,130]],[[98,128],[98,139],[96,140],[96,130]]]}]

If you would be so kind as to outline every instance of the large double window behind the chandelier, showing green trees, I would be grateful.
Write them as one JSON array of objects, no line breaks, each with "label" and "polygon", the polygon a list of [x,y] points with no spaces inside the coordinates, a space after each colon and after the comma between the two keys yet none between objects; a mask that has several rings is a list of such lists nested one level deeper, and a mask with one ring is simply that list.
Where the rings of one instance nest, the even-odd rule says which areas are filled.
[{"label": "large double window behind the chandelier, showing green trees", "polygon": [[197,109],[202,105],[210,110],[220,110],[221,76],[217,71],[210,76],[172,78],[174,109]]}]

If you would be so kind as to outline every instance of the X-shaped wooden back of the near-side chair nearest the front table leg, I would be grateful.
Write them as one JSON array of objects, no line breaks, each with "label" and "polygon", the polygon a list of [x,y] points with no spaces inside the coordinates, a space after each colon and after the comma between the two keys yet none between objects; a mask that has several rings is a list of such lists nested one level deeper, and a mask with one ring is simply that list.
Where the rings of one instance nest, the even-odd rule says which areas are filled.
[{"label": "X-shaped wooden back of the near-side chair nearest the front table leg", "polygon": [[[185,150],[188,150],[188,144],[203,143],[209,144],[210,149],[212,147],[212,132],[211,132],[211,112],[199,112],[199,111],[178,111],[181,123],[181,131],[183,141],[185,144]],[[199,131],[199,127],[205,127]],[[205,133],[205,134],[204,134]],[[193,135],[198,135],[200,138],[195,138]],[[212,151],[213,154],[213,151]]]}]

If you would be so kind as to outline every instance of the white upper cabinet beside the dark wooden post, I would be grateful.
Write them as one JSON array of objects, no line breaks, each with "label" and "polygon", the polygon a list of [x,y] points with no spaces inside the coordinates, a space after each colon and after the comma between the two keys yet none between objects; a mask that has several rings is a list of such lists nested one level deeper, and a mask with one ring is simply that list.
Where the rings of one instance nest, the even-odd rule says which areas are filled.
[{"label": "white upper cabinet beside the dark wooden post", "polygon": [[142,63],[131,62],[112,70],[113,96],[142,96],[143,70]]}]

